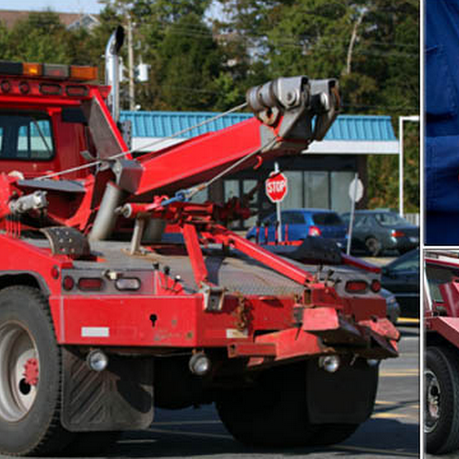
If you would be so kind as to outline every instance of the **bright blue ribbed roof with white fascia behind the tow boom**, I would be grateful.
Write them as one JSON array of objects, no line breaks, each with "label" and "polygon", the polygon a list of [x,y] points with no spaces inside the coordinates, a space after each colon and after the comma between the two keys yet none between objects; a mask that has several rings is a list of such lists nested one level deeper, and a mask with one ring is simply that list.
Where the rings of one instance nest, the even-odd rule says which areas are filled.
[{"label": "bright blue ribbed roof with white fascia behind the tow boom", "polygon": [[[141,150],[155,139],[167,138],[218,115],[211,112],[130,112],[122,111],[121,121],[132,123],[134,146]],[[251,118],[251,113],[232,113],[180,134],[179,139],[218,131]],[[177,139],[170,140],[173,144]],[[309,153],[317,154],[397,154],[390,116],[339,115],[322,142],[313,142]]]}]

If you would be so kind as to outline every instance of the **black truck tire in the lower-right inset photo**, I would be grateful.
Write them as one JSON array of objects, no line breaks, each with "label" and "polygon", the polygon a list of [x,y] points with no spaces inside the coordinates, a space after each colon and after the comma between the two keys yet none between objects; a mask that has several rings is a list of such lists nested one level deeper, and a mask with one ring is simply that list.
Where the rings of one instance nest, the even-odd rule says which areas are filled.
[{"label": "black truck tire in the lower-right inset photo", "polygon": [[459,448],[459,355],[446,347],[426,352],[424,433],[426,450],[444,454]]}]

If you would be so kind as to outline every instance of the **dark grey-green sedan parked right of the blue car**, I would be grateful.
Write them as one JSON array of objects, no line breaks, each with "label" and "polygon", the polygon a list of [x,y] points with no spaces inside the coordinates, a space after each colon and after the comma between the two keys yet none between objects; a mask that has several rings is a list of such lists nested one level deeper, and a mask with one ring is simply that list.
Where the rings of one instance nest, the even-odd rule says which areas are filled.
[{"label": "dark grey-green sedan parked right of the blue car", "polygon": [[[350,213],[342,215],[349,225]],[[365,250],[377,257],[385,250],[400,254],[419,245],[419,227],[412,225],[395,212],[355,211],[352,228],[352,251]]]}]

